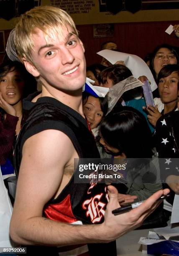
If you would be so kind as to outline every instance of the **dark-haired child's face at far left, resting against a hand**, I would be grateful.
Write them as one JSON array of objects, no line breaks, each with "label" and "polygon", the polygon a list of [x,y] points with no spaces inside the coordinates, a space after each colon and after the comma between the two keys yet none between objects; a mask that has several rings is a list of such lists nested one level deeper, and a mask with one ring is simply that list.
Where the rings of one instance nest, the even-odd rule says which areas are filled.
[{"label": "dark-haired child's face at far left, resting against a hand", "polygon": [[23,88],[24,80],[16,69],[11,69],[4,77],[0,77],[0,92],[10,105],[15,105],[22,99]]}]

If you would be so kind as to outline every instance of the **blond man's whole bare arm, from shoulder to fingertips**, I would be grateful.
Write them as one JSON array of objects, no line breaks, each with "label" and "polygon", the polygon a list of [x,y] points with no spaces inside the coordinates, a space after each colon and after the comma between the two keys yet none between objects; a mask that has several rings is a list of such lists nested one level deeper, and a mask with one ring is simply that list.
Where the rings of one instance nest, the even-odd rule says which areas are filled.
[{"label": "blond man's whole bare arm, from shoulder to fingertips", "polygon": [[43,207],[56,194],[64,167],[74,160],[75,154],[72,142],[60,131],[43,131],[26,141],[10,224],[14,241],[54,246],[113,241],[139,226],[159,205],[156,200],[169,192],[156,192],[138,208],[114,216],[111,211],[120,206],[118,191],[109,186],[110,202],[100,225],[69,225],[43,218]]}]

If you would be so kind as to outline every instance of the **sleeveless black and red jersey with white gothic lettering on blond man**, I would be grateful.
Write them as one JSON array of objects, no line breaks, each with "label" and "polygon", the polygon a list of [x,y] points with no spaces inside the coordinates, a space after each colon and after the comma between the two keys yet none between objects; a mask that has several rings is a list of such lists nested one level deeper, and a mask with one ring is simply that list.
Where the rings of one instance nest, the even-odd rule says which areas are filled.
[{"label": "sleeveless black and red jersey with white gothic lettering on blond man", "polygon": [[[34,134],[47,129],[65,133],[72,141],[79,158],[100,158],[94,137],[87,128],[86,120],[79,113],[51,97],[41,97],[32,105],[15,146],[14,162],[17,175],[24,142]],[[46,203],[43,215],[51,220],[66,223],[102,223],[108,200],[106,190],[105,184],[74,183],[73,175],[60,195]],[[89,247],[90,255],[95,255],[96,245]],[[106,253],[110,249],[111,255],[116,255],[115,248],[109,243],[98,244],[98,249],[99,247],[101,252]],[[57,251],[52,253],[52,247],[49,250],[50,255],[58,255]]]}]

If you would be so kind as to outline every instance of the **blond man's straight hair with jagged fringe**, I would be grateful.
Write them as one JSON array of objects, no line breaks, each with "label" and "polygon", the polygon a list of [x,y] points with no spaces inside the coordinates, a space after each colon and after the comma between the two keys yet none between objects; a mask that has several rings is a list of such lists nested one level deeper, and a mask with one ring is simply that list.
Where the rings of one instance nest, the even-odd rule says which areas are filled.
[{"label": "blond man's straight hair with jagged fringe", "polygon": [[61,37],[64,28],[72,27],[78,36],[74,21],[64,10],[52,6],[35,7],[20,16],[15,27],[15,48],[18,56],[33,63],[31,51],[33,50],[32,35],[39,28],[44,33],[46,41],[53,39],[54,35]]}]

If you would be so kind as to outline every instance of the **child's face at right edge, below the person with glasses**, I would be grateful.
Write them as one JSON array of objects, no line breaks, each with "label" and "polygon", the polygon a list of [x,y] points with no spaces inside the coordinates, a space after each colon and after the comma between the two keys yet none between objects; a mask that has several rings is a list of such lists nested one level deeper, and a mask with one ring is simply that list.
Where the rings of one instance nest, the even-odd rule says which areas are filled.
[{"label": "child's face at right edge, below the person with glasses", "polygon": [[159,95],[161,101],[170,103],[177,100],[177,88],[179,82],[178,72],[172,72],[168,77],[161,78],[159,81]]}]

